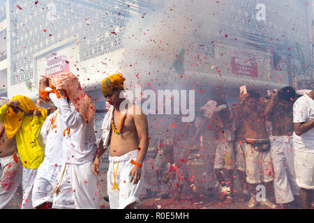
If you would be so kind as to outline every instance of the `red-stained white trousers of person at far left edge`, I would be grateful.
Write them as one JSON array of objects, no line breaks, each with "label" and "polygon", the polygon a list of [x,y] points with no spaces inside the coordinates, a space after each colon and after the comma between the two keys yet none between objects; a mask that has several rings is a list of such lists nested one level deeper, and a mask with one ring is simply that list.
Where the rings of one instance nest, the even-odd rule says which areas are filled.
[{"label": "red-stained white trousers of person at far left edge", "polygon": [[15,162],[13,155],[0,158],[2,176],[0,180],[0,209],[6,208],[22,183],[22,163]]}]

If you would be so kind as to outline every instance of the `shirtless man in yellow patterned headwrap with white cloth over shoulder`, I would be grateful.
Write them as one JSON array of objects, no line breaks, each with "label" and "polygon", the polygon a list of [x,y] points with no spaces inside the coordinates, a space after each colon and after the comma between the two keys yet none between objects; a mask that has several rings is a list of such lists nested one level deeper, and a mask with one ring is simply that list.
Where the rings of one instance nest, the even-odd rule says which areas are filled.
[{"label": "shirtless man in yellow patterned headwrap with white cloth over shoulder", "polygon": [[[123,107],[125,78],[121,74],[107,77],[101,90],[112,105],[103,121],[103,135],[94,161],[94,173],[100,176],[100,157],[110,148],[107,193],[110,208],[135,208],[144,184],[144,159],[149,146],[147,117],[140,107]],[[139,112],[137,112],[139,111]],[[142,179],[142,180],[141,180]]]}]

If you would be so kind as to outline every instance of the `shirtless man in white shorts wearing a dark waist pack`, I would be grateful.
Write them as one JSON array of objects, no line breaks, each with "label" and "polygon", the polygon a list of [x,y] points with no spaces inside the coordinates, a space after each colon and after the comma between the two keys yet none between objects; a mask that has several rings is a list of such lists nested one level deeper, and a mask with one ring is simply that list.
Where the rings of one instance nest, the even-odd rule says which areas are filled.
[{"label": "shirtless man in white shorts wearing a dark waist pack", "polygon": [[[248,201],[248,207],[254,208],[260,203],[261,206],[276,208],[276,205],[267,198],[274,180],[274,172],[271,164],[266,116],[264,116],[260,98],[260,94],[255,91],[248,91],[246,94],[241,91],[237,106],[237,112],[244,121],[246,132],[244,147],[246,182],[251,186],[251,199]],[[256,198],[257,190],[261,192],[258,199]]]}]

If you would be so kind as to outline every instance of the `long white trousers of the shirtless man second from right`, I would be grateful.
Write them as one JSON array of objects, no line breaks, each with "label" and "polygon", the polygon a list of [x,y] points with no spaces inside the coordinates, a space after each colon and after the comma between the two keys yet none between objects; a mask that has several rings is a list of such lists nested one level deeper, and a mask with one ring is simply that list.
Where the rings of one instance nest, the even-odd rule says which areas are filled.
[{"label": "long white trousers of the shirtless man second from right", "polygon": [[299,195],[294,171],[292,136],[271,136],[271,159],[274,167],[276,203],[289,203]]}]

